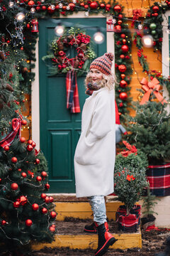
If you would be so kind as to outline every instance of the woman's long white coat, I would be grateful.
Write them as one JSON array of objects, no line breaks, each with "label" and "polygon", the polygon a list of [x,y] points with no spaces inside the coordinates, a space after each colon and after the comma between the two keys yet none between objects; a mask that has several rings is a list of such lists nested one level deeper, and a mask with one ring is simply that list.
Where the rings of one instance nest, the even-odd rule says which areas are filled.
[{"label": "woman's long white coat", "polygon": [[106,87],[86,99],[74,155],[77,197],[113,193],[115,95]]}]

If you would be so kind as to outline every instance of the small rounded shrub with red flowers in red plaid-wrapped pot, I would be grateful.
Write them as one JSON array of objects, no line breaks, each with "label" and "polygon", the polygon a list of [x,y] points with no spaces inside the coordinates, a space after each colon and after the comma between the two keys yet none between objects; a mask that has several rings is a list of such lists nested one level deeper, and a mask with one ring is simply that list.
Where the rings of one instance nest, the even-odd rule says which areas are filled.
[{"label": "small rounded shrub with red flowers in red plaid-wrapped pot", "polygon": [[140,205],[135,205],[148,186],[145,170],[147,158],[135,146],[123,142],[128,150],[121,151],[115,159],[115,193],[124,203],[116,213],[119,230],[136,232],[140,223]]}]

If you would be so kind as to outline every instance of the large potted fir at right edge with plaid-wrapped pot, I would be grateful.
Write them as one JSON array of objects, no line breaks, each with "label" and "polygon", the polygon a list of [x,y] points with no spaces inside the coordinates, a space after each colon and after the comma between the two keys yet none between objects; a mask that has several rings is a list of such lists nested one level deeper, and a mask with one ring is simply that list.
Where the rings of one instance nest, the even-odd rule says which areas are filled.
[{"label": "large potted fir at right edge with plaid-wrapped pot", "polygon": [[170,115],[166,104],[148,101],[136,103],[135,117],[128,117],[128,140],[149,161],[147,179],[155,196],[170,195]]}]

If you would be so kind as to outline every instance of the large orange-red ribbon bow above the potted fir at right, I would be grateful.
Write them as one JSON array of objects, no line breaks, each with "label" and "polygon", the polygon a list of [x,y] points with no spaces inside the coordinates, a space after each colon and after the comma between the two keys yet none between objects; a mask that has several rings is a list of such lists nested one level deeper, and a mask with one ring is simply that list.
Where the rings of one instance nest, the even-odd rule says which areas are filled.
[{"label": "large orange-red ribbon bow above the potted fir at right", "polygon": [[157,78],[154,78],[152,81],[148,82],[146,78],[142,78],[142,81],[140,82],[142,85],[142,89],[145,90],[145,95],[142,97],[142,100],[140,102],[140,105],[145,104],[147,101],[149,101],[149,97],[151,92],[154,93],[155,97],[159,100],[159,102],[162,102],[162,105],[166,102],[162,95],[159,92],[159,80]]}]

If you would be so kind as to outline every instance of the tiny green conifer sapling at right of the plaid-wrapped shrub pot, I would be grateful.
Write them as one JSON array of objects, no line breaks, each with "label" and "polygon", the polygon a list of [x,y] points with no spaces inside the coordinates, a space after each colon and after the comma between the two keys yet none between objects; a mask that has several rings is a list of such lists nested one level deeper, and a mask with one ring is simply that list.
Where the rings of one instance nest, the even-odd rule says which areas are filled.
[{"label": "tiny green conifer sapling at right of the plaid-wrapped shrub pot", "polygon": [[143,215],[148,217],[148,215],[150,214],[151,215],[157,214],[154,211],[154,206],[157,204],[156,201],[160,201],[160,199],[151,194],[149,186],[147,187],[147,196],[143,196],[142,199],[143,199],[142,208],[144,208]]}]

